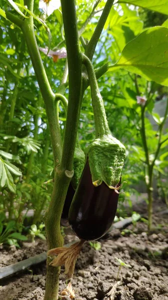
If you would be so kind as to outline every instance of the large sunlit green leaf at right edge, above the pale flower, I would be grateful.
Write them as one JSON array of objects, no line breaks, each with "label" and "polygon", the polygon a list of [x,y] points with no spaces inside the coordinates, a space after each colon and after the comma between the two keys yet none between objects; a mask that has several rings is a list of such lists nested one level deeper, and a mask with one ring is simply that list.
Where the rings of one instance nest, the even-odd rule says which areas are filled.
[{"label": "large sunlit green leaf at right edge, above the pale flower", "polygon": [[168,86],[168,28],[156,26],[139,34],[111,67],[124,68]]}]

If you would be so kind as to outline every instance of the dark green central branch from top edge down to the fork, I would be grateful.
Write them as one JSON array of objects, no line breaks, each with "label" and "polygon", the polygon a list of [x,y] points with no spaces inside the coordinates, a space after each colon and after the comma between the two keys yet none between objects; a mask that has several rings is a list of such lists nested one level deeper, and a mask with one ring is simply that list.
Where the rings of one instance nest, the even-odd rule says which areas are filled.
[{"label": "dark green central branch from top edge down to the fork", "polygon": [[82,58],[79,50],[75,0],[61,0],[61,6],[68,59],[69,97],[60,168],[72,170],[82,102]]}]

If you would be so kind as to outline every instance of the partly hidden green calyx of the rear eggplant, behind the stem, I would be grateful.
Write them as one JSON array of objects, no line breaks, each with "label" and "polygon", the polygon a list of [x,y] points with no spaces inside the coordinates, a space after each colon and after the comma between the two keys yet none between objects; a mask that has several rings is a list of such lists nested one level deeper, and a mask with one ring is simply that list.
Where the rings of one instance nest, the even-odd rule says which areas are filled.
[{"label": "partly hidden green calyx of the rear eggplant, behind the stem", "polygon": [[74,175],[72,177],[72,185],[74,189],[77,188],[80,176],[84,168],[84,164],[85,164],[85,154],[79,146],[76,146],[74,159],[73,159]]}]

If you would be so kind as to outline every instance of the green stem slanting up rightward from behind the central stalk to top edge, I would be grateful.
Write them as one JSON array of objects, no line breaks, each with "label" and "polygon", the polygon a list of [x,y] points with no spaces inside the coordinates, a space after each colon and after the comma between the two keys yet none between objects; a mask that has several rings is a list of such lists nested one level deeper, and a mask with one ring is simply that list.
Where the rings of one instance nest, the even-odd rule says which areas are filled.
[{"label": "green stem slanting up rightward from behind the central stalk to top edge", "polygon": [[108,15],[110,13],[113,3],[114,3],[114,0],[107,0],[105,7],[103,9],[103,12],[98,21],[98,24],[95,28],[95,31],[86,47],[85,54],[90,58],[90,60],[92,60],[92,58],[93,58],[93,54],[95,52],[96,45],[98,43],[98,40],[100,38],[100,35],[102,33],[102,30],[104,28],[104,25],[106,23],[106,20],[108,18]]}]

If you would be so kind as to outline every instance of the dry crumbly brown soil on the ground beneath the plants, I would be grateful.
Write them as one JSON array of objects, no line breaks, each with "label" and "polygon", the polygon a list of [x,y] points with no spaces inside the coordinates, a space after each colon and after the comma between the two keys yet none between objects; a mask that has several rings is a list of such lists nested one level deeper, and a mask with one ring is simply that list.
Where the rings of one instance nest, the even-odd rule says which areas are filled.
[{"label": "dry crumbly brown soil on the ground beneath the plants", "polygon": [[[162,206],[162,207],[161,207]],[[164,203],[154,203],[155,231],[148,234],[147,224],[137,222],[125,231],[114,229],[101,239],[101,249],[84,244],[77,259],[72,286],[76,300],[168,300],[168,213]],[[144,212],[146,203],[136,206]],[[124,234],[124,235],[123,235]],[[66,235],[66,240],[74,239]],[[46,242],[23,243],[20,249],[2,248],[0,266],[5,266],[39,254],[47,248]],[[122,259],[129,266],[122,266]],[[60,291],[66,287],[63,267]],[[45,289],[45,263],[1,280],[0,299],[43,300]],[[70,300],[64,296],[62,300]]]}]

